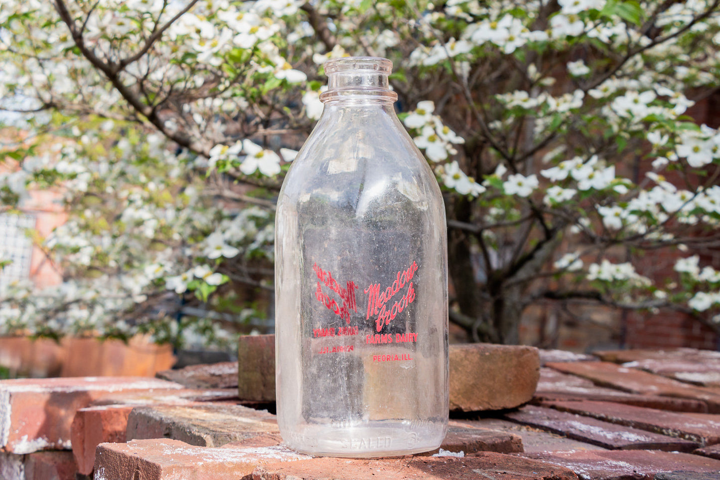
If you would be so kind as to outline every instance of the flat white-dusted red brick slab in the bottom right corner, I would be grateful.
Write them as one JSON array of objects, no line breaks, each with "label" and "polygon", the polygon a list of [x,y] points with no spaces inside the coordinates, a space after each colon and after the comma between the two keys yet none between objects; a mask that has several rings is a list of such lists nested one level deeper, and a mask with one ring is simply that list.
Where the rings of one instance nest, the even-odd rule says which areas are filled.
[{"label": "flat white-dusted red brick slab in the bottom right corner", "polygon": [[585,480],[653,480],[656,474],[667,471],[720,471],[720,461],[711,458],[656,450],[569,450],[522,455],[570,468]]}]

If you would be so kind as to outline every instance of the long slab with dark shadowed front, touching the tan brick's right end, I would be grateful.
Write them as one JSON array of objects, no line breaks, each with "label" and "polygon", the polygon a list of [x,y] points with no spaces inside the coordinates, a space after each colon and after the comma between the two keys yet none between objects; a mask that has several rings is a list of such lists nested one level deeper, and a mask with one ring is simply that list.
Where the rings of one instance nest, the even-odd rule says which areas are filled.
[{"label": "long slab with dark shadowed front, touching the tan brick's right end", "polygon": [[561,373],[552,368],[540,368],[540,380],[533,401],[537,403],[544,400],[615,401],[618,404],[644,406],[649,409],[669,410],[670,412],[708,412],[708,405],[702,400],[629,394],[626,391],[595,386],[587,378]]}]

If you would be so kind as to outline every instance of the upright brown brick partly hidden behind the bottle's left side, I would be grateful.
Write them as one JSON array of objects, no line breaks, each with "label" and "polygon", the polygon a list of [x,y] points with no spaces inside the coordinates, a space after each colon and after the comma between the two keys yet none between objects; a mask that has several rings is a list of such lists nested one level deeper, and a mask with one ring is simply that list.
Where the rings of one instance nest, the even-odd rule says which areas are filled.
[{"label": "upright brown brick partly hidden behind the bottle's left side", "polygon": [[238,340],[238,396],[275,401],[275,336],[243,335]]}]

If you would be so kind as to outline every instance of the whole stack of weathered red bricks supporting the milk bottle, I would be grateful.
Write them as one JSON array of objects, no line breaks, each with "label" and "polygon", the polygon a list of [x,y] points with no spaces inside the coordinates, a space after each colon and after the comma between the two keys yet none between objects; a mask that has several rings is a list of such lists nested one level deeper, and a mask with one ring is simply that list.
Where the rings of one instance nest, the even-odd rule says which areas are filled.
[{"label": "whole stack of weathered red bricks supporting the milk bottle", "polygon": [[[274,365],[252,345],[239,365],[253,375],[218,364],[161,374],[173,381],[0,382],[0,479],[720,479],[719,389],[698,363],[717,367],[695,351],[678,353],[678,368],[647,355],[618,365],[618,352],[598,354],[610,361],[554,352],[540,368],[528,347],[452,347],[441,449],[351,460],[289,450],[274,414],[248,407],[273,405]],[[688,372],[695,383],[680,380]],[[244,384],[231,393],[233,378]]]}]

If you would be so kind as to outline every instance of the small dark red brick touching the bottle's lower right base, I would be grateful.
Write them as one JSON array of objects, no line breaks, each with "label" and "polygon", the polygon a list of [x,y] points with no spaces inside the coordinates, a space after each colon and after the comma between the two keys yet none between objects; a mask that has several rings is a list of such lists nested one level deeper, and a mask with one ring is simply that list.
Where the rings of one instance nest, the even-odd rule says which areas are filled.
[{"label": "small dark red brick touching the bottle's lower right base", "polygon": [[440,449],[465,455],[475,452],[519,453],[523,452],[523,439],[514,433],[451,421],[440,448],[422,455],[434,455]]}]

